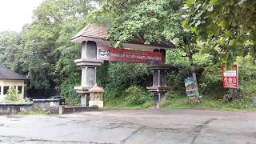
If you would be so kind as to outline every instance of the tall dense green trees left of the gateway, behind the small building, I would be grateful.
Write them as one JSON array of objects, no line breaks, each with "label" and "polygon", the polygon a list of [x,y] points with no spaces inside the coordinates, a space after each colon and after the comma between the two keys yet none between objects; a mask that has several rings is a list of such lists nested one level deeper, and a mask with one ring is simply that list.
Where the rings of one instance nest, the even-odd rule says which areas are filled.
[{"label": "tall dense green trees left of the gateway, behind the small building", "polygon": [[[0,62],[30,79],[28,89],[44,90],[50,96],[63,94],[70,103],[80,70],[80,46],[70,39],[86,25],[95,7],[90,0],[46,0],[34,10],[34,20],[21,33],[0,34]],[[70,95],[70,96],[69,96]],[[70,97],[70,98],[68,98]]]}]

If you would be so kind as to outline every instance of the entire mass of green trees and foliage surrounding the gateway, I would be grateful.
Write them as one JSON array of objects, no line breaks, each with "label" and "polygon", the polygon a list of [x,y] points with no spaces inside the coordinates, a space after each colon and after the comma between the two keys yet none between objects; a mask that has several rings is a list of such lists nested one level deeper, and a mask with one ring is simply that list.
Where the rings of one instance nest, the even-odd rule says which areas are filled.
[{"label": "entire mass of green trees and foliage surrounding the gateway", "polygon": [[[177,49],[166,52],[166,63],[172,66],[168,83],[174,91],[185,91],[184,79],[191,76],[191,66],[196,68],[203,94],[214,95],[216,90],[221,91],[221,60],[227,64],[238,63],[239,91],[243,96],[241,106],[255,96],[256,3],[253,0],[186,0],[185,12],[180,9],[182,0],[95,2],[102,7],[95,10],[89,0],[42,2],[34,10],[34,21],[24,26],[21,33],[0,33],[0,62],[26,74],[30,78],[29,89],[54,91],[62,94],[69,104],[77,104],[80,97],[74,86],[80,85],[81,71],[74,59],[81,57],[81,50],[79,45],[70,42],[70,38],[87,22],[95,22],[110,26],[109,39],[117,47],[137,38],[138,34],[145,44],[173,42]],[[190,40],[192,63],[187,58],[183,38]],[[104,101],[107,106],[118,105],[118,102],[125,107],[152,106],[152,97],[140,88],[150,86],[146,65],[110,62],[98,68],[97,77],[98,85],[106,89]],[[183,106],[186,98],[176,93],[167,95]],[[222,106],[210,100],[206,105],[218,104]]]}]

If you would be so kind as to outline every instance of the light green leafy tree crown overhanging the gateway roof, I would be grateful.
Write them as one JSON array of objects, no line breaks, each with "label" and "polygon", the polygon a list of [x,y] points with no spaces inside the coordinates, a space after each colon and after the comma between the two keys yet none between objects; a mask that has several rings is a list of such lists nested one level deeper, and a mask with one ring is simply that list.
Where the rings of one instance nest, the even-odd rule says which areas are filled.
[{"label": "light green leafy tree crown overhanging the gateway roof", "polygon": [[[123,6],[120,3],[125,3]],[[182,1],[106,1],[102,13],[114,19],[109,39],[120,46],[139,34],[146,44],[152,42],[178,42],[179,23],[182,22],[179,7]],[[120,10],[121,9],[121,10]]]}]

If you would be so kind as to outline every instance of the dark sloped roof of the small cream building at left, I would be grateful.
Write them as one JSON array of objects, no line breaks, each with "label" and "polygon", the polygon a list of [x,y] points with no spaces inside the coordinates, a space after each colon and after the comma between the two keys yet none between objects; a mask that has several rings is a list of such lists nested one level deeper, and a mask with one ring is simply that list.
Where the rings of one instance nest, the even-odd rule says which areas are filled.
[{"label": "dark sloped roof of the small cream building at left", "polygon": [[8,70],[5,66],[2,66],[0,64],[0,79],[5,79],[5,80],[26,80],[27,78],[22,75],[15,73],[12,70]]}]

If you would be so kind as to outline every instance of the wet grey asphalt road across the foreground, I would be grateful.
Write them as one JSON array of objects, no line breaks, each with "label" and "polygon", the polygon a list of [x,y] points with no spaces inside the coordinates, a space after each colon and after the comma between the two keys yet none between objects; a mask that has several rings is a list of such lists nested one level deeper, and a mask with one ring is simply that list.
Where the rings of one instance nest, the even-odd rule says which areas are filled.
[{"label": "wet grey asphalt road across the foreground", "polygon": [[256,144],[256,112],[104,110],[0,116],[0,143]]}]

